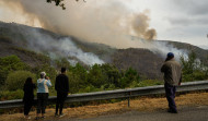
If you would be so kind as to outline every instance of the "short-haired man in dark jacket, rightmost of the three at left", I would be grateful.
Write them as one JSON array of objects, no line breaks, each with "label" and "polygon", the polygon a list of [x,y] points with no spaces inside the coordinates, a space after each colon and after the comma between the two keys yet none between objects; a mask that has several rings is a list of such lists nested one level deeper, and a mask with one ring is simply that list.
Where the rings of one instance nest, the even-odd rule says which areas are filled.
[{"label": "short-haired man in dark jacket, rightmost of the three at left", "polygon": [[63,117],[62,107],[69,92],[69,80],[66,75],[66,68],[61,68],[61,74],[56,77],[55,89],[57,90],[56,113],[59,117]]}]

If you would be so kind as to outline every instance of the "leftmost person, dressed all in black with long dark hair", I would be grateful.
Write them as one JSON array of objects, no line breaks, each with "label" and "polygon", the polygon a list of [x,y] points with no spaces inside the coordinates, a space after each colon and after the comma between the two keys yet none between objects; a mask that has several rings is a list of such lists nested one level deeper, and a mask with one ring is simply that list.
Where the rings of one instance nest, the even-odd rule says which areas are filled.
[{"label": "leftmost person, dressed all in black with long dark hair", "polygon": [[27,77],[25,83],[24,83],[24,97],[23,97],[23,102],[24,102],[24,117],[26,119],[31,119],[28,117],[28,112],[33,106],[34,102],[34,89],[36,88],[35,84],[33,84],[32,77]]}]

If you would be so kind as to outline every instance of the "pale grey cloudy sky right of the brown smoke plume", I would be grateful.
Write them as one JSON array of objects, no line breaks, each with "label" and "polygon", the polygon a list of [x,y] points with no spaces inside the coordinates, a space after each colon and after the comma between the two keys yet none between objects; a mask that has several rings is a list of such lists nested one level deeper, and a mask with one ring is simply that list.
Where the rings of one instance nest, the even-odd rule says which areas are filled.
[{"label": "pale grey cloudy sky right of the brown smoke plume", "polygon": [[150,10],[158,39],[208,46],[207,0],[135,0],[138,10]]}]

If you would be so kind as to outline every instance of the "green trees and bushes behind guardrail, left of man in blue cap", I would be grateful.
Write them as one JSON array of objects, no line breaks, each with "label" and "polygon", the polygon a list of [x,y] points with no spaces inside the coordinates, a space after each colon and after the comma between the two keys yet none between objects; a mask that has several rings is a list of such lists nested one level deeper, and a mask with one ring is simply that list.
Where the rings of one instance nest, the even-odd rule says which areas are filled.
[{"label": "green trees and bushes behind guardrail, left of man in blue cap", "polygon": [[[58,74],[57,70],[60,70],[60,66],[67,66],[68,69],[67,75],[69,76],[71,94],[138,87],[138,83],[141,82],[136,70],[129,68],[119,71],[111,64],[94,64],[91,68],[85,68],[78,63],[76,66],[71,66],[66,59],[60,59],[54,61],[53,66],[42,64],[32,68],[22,62],[16,56],[0,58],[0,63],[1,78],[3,77],[1,80],[0,100],[22,98],[22,88],[26,77],[31,76],[36,82],[42,71],[47,73],[54,85]],[[54,86],[49,89],[50,96],[56,95]]]}]

